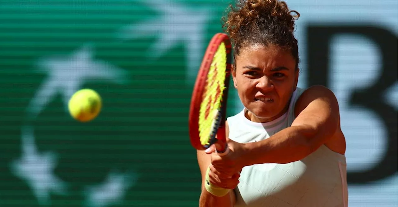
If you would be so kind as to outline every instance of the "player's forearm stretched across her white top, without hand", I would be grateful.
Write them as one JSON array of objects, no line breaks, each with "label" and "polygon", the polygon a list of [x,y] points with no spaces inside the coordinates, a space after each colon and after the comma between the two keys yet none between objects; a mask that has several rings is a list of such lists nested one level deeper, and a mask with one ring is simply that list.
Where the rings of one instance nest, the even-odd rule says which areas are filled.
[{"label": "player's forearm stretched across her white top, without hand", "polygon": [[306,126],[291,126],[259,142],[246,144],[248,165],[261,163],[291,163],[312,153],[316,131]]}]

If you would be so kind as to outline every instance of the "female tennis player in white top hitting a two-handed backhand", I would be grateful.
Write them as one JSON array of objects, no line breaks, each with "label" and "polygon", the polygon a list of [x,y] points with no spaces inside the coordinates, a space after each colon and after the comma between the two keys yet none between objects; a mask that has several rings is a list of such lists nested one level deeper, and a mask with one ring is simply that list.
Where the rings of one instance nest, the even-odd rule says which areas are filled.
[{"label": "female tennis player in white top hitting a two-handed backhand", "polygon": [[[279,0],[241,0],[231,8],[224,27],[234,44],[231,72],[244,109],[227,118],[229,153],[219,155],[214,145],[197,151],[199,206],[346,207],[336,97],[323,86],[297,87],[299,13]],[[219,188],[205,188],[206,177]]]}]

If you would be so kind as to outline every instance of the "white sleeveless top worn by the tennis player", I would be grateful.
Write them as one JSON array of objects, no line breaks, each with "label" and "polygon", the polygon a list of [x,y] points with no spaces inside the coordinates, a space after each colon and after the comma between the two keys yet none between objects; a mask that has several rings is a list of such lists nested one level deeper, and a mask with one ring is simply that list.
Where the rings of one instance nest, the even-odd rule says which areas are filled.
[{"label": "white sleeveless top worn by the tennis player", "polygon": [[[228,117],[228,138],[257,142],[291,126],[302,92],[295,90],[288,111],[274,121],[252,122],[245,117],[247,109]],[[346,174],[345,156],[324,145],[300,161],[246,166],[235,188],[234,207],[347,207]]]}]

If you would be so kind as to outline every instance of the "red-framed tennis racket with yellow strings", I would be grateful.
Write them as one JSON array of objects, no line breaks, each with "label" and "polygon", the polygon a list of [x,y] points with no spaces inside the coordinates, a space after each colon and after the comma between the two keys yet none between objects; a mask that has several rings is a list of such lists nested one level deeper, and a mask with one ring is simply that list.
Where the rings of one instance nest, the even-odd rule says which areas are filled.
[{"label": "red-framed tennis racket with yellow strings", "polygon": [[189,136],[192,146],[199,150],[218,142],[222,147],[217,152],[227,153],[225,115],[231,48],[228,35],[214,35],[196,78],[189,109]]}]

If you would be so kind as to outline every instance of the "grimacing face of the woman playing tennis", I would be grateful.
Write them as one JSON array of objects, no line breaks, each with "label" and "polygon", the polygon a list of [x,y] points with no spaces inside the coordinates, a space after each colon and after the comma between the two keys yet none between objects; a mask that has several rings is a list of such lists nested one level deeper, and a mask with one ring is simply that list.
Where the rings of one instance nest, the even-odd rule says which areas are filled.
[{"label": "grimacing face of the woman playing tennis", "polygon": [[298,69],[289,50],[268,45],[241,48],[232,69],[234,86],[246,115],[254,122],[277,119],[287,110],[297,87]]}]

